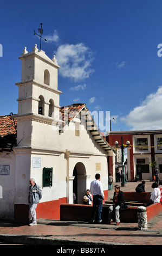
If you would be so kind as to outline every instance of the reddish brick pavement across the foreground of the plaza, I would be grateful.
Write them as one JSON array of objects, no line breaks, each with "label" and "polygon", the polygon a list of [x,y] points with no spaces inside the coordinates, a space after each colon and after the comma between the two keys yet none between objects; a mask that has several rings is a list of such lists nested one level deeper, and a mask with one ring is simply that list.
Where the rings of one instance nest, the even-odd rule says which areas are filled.
[{"label": "reddish brick pavement across the foreground of the plaza", "polygon": [[[136,183],[136,182],[130,182]],[[150,182],[152,184],[152,182]],[[151,185],[148,189],[152,191]],[[134,191],[136,184],[122,187]],[[148,191],[147,191],[148,192]],[[106,245],[162,245],[162,213],[148,223],[147,230],[139,230],[138,223],[119,226],[38,220],[38,224],[16,225],[0,222],[0,242],[27,245],[106,246]]]}]

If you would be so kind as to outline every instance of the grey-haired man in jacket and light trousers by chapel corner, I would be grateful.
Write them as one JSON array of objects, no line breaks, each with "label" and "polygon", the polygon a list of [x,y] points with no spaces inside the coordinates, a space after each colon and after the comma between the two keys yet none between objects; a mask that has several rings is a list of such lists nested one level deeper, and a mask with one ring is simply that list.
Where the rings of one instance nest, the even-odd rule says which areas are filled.
[{"label": "grey-haired man in jacket and light trousers by chapel corner", "polygon": [[36,225],[36,208],[37,204],[42,198],[42,190],[39,185],[35,183],[35,180],[32,178],[29,180],[29,225]]}]

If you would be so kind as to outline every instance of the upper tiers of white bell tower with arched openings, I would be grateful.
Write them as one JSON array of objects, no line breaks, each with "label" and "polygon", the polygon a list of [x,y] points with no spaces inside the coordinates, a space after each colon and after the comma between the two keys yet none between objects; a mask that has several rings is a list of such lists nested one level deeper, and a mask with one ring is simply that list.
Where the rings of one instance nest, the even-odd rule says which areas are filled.
[{"label": "upper tiers of white bell tower with arched openings", "polygon": [[[57,64],[55,56],[50,59],[37,45],[28,53],[24,47],[21,82],[18,86],[18,114],[42,114],[51,117],[51,111],[59,107],[60,91],[57,90]],[[50,108],[50,111],[49,111]]]}]

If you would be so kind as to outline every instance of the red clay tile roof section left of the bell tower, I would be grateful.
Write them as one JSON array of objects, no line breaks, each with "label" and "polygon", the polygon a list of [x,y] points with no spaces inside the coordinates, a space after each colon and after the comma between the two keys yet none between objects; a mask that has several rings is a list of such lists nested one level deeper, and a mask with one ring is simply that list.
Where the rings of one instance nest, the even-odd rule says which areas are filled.
[{"label": "red clay tile roof section left of the bell tower", "polygon": [[[15,121],[15,124],[14,124]],[[11,115],[0,116],[0,137],[16,134],[17,121]]]}]

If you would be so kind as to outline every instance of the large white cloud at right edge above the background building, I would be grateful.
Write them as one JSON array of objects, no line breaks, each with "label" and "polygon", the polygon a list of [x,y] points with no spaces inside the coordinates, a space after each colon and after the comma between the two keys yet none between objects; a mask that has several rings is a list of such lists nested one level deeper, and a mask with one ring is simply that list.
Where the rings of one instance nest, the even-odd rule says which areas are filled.
[{"label": "large white cloud at right edge above the background building", "polygon": [[162,129],[162,86],[155,93],[151,93],[135,107],[126,117],[120,120],[131,130],[158,130]]}]

